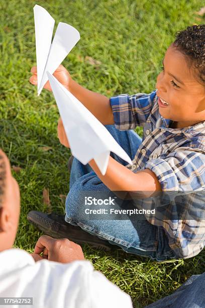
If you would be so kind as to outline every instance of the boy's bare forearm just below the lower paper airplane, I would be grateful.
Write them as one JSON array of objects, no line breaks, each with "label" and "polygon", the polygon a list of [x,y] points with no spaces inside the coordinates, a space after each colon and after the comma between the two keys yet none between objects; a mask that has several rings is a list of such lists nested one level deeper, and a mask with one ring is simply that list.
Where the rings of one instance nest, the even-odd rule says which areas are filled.
[{"label": "boy's bare forearm just below the lower paper airplane", "polygon": [[[94,160],[89,165],[111,191],[147,191],[152,195],[162,190],[156,175],[149,169],[134,173],[110,157],[107,172],[102,176]],[[145,196],[149,197],[149,194]]]}]

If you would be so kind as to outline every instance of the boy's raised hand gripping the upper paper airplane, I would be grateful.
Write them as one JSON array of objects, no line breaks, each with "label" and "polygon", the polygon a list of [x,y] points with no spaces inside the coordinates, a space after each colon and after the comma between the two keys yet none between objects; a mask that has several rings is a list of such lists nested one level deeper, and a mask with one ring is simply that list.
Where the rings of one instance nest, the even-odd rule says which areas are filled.
[{"label": "boy's raised hand gripping the upper paper airplane", "polygon": [[[31,69],[31,72],[32,72],[32,76],[30,77],[29,81],[32,85],[37,86],[37,79],[38,79],[37,67],[33,66]],[[67,71],[67,69],[62,64],[58,66],[58,68],[55,70],[53,75],[66,89],[69,90],[70,82],[72,79],[71,79],[70,73]],[[52,91],[49,81],[47,81],[44,88],[49,91]]]}]

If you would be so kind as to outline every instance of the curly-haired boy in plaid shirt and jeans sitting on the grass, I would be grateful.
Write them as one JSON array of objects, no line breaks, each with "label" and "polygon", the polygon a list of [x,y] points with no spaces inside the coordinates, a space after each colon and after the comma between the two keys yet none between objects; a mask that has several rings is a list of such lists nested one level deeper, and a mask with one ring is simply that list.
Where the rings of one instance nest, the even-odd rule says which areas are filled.
[{"label": "curly-haired boy in plaid shirt and jeans sitting on the grass", "polygon": [[[82,192],[146,191],[151,196],[155,192],[188,194],[204,191],[204,43],[205,25],[187,27],[178,32],[165,53],[163,69],[157,77],[157,90],[149,95],[124,94],[108,99],[82,88],[62,65],[59,66],[55,77],[102,124],[108,125],[108,130],[133,160],[133,166],[130,166],[116,155],[111,155],[106,175],[102,176],[93,160],[83,166],[74,159],[66,199],[66,222],[78,225],[127,252],[158,261],[189,258],[202,250],[205,225],[198,209],[203,213],[204,198],[195,202],[193,196],[188,196],[187,200],[187,196],[182,197],[185,201],[180,204],[181,208],[177,202],[170,202],[160,217],[146,216],[146,220],[89,220],[86,215],[80,216],[79,212],[84,206]],[[32,73],[30,82],[36,85],[35,67]],[[51,90],[49,83],[45,88]],[[109,124],[115,124],[115,127]],[[137,125],[144,127],[143,139],[131,130]],[[63,145],[69,147],[61,119],[58,137]],[[186,216],[186,211],[193,214]],[[177,215],[174,215],[175,212]],[[54,226],[60,217],[32,211],[28,219],[47,234],[56,236]],[[47,225],[51,223],[53,227],[48,229]],[[70,237],[66,223],[64,229],[61,236]]]}]

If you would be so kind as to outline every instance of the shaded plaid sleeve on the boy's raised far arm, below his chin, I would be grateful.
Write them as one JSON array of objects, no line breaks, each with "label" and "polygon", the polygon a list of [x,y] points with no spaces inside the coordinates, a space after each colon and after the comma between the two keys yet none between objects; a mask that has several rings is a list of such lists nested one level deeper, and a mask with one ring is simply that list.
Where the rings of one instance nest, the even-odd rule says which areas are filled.
[{"label": "shaded plaid sleeve on the boy's raised far arm, below his chin", "polygon": [[144,126],[156,102],[156,90],[150,94],[122,94],[110,99],[115,126],[119,130]]}]

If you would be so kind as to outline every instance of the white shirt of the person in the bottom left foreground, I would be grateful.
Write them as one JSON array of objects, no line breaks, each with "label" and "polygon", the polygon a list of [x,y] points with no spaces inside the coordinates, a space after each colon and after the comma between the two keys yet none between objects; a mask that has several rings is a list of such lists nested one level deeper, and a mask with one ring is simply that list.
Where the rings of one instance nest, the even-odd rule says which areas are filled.
[{"label": "white shirt of the person in the bottom left foreground", "polygon": [[9,249],[0,253],[0,264],[0,297],[33,297],[35,308],[132,307],[130,296],[89,261],[35,262],[26,251]]}]

